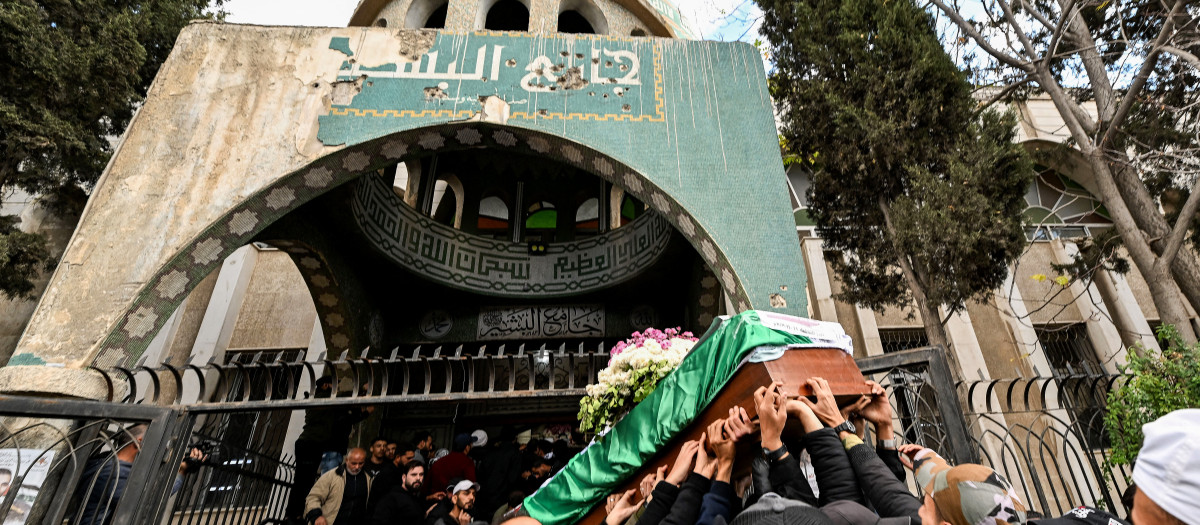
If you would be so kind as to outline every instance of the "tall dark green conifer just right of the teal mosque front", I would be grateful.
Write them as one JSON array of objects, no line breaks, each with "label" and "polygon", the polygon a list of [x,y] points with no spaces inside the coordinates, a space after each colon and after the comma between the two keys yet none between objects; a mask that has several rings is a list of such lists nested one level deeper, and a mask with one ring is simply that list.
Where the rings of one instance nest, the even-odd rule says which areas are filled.
[{"label": "tall dark green conifer just right of the teal mosque front", "polygon": [[1001,285],[1033,170],[1015,120],[979,113],[932,18],[911,0],[757,0],[784,143],[812,173],[809,212],[842,298],[937,313]]}]

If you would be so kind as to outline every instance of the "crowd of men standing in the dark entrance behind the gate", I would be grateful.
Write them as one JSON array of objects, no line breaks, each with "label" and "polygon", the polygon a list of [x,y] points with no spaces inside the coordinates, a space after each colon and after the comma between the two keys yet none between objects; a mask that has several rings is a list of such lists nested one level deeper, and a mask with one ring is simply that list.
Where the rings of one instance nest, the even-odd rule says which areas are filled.
[{"label": "crowd of men standing in the dark entrance behind the gate", "polygon": [[314,525],[498,524],[569,455],[565,441],[532,440],[529,430],[505,429],[494,441],[484,430],[458,434],[450,448],[438,448],[428,432],[409,442],[380,436],[370,448],[349,449],[311,489],[296,485],[304,511],[294,518]]}]

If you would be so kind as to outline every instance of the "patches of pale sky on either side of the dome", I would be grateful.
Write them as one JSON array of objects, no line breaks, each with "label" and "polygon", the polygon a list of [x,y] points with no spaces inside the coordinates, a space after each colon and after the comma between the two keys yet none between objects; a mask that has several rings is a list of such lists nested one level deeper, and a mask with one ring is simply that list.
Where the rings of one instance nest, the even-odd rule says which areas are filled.
[{"label": "patches of pale sky on either side of the dome", "polygon": [[[228,22],[262,25],[344,26],[359,0],[228,0]],[[677,0],[691,25],[707,40],[757,37],[754,0]]]}]

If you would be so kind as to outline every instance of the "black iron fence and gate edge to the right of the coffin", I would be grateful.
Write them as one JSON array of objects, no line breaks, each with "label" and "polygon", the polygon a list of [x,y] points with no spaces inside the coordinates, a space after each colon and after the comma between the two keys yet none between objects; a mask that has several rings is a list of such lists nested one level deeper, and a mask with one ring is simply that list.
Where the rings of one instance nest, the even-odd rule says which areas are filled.
[{"label": "black iron fence and gate edge to the right of the coffin", "polygon": [[[1031,508],[1057,517],[1086,505],[1128,517],[1130,471],[1110,465],[1109,392],[1128,378],[1064,368],[1050,378],[955,382],[938,348],[858,360],[888,392],[905,442],[1004,475]],[[920,491],[919,487],[911,487]]]}]

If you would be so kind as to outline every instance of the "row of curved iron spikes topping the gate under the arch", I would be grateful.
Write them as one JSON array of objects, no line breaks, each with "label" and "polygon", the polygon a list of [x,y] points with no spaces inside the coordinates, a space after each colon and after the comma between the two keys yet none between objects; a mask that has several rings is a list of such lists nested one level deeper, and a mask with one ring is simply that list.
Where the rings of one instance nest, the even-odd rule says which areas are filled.
[{"label": "row of curved iron spikes topping the gate under the arch", "polygon": [[[407,356],[395,349],[384,357],[322,358],[293,362],[286,352],[272,360],[247,357],[229,363],[138,366],[94,372],[108,386],[108,400],[155,405],[204,406],[208,411],[282,410],[313,404],[437,402],[526,396],[581,396],[607,366],[608,351],[562,343],[479,345],[467,349],[416,346]],[[338,385],[328,399],[314,400],[322,376]]]}]

